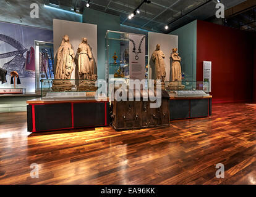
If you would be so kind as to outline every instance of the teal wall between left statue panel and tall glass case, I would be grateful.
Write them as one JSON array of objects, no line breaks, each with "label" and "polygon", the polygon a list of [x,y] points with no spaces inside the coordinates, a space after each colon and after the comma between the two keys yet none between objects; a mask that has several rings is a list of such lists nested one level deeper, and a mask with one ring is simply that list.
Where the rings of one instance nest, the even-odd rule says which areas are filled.
[{"label": "teal wall between left statue panel and tall glass case", "polygon": [[98,31],[98,79],[105,79],[105,36],[107,30],[120,31],[120,17],[85,8],[83,23],[97,25]]}]

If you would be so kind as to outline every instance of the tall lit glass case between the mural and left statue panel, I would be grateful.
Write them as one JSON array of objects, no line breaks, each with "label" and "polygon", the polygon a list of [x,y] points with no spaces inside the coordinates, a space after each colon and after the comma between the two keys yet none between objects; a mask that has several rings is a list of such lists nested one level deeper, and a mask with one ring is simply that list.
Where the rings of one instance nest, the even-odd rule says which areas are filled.
[{"label": "tall lit glass case between the mural and left statue panel", "polygon": [[41,79],[54,79],[53,43],[35,41],[35,87],[40,92]]}]

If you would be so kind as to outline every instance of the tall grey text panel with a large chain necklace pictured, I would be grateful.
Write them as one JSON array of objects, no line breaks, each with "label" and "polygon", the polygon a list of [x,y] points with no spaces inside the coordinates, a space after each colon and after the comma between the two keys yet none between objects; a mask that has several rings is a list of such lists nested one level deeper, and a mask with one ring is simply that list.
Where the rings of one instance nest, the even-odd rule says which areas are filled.
[{"label": "tall grey text panel with a large chain necklace pictured", "polygon": [[145,35],[129,34],[130,79],[145,79]]}]

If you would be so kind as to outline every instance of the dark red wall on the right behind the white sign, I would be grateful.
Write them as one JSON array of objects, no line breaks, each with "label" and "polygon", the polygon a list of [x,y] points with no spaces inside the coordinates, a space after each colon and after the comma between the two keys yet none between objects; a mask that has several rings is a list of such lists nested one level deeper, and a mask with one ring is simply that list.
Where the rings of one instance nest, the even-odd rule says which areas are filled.
[{"label": "dark red wall on the right behind the white sign", "polygon": [[250,102],[253,97],[253,34],[197,21],[197,81],[211,61],[213,102]]}]

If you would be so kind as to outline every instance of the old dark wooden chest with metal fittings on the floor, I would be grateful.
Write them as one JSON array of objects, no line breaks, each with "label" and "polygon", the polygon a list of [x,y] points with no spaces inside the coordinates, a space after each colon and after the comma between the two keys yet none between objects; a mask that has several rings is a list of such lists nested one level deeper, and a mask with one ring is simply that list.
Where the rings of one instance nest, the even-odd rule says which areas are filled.
[{"label": "old dark wooden chest with metal fittings on the floor", "polygon": [[143,101],[116,101],[112,103],[112,123],[116,130],[169,126],[169,95],[162,90],[161,107],[150,108],[150,99]]}]

